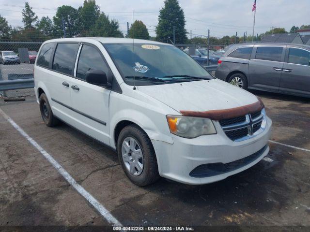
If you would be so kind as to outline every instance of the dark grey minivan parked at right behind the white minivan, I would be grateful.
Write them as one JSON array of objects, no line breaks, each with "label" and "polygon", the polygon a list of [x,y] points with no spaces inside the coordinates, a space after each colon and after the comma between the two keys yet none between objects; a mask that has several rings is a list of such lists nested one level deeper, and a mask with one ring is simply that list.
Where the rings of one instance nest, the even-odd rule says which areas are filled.
[{"label": "dark grey minivan parked at right behind the white minivan", "polygon": [[233,45],[218,63],[215,76],[235,86],[310,97],[308,45]]}]

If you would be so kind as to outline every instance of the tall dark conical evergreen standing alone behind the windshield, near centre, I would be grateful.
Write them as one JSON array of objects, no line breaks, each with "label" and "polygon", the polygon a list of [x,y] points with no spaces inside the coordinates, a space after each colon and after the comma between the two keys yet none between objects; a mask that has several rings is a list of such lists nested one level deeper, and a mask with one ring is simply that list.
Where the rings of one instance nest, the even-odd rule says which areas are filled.
[{"label": "tall dark conical evergreen standing alone behind the windshield, near centre", "polygon": [[175,42],[186,43],[185,17],[178,0],[165,0],[165,6],[159,11],[156,27],[156,40],[173,41],[173,26],[175,27]]}]

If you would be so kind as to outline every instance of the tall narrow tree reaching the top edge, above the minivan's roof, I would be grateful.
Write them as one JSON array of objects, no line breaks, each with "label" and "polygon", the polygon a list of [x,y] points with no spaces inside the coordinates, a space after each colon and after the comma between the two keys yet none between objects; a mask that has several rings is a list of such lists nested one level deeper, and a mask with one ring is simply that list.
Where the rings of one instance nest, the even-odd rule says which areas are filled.
[{"label": "tall narrow tree reaching the top edge, above the minivan's roof", "polygon": [[78,8],[80,30],[82,36],[88,36],[90,30],[95,26],[100,15],[100,8],[95,0],[85,0],[83,6]]}]

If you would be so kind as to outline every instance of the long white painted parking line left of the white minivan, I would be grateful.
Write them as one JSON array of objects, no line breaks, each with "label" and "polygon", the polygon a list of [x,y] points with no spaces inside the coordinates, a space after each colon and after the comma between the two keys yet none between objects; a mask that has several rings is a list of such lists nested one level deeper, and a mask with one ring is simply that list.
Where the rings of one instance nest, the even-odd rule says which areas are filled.
[{"label": "long white painted parking line left of the white minivan", "polygon": [[93,207],[111,224],[114,226],[122,226],[122,224],[115,218],[110,212],[101,205],[88,191],[86,191],[82,186],[80,186],[77,181],[51,156],[45,151],[37,142],[35,142],[23,129],[21,129],[9,116],[7,116],[1,109],[0,115],[8,120],[9,123],[30,143],[33,145],[53,166],[54,168],[63,176],[63,178],[75,188],[79,194],[81,194]]}]

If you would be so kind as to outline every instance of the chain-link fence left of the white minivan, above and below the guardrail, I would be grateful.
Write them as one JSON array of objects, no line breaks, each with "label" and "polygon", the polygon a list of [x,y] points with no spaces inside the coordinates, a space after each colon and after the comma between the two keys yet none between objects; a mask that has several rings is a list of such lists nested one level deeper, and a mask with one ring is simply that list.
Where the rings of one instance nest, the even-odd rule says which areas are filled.
[{"label": "chain-link fence left of the white minivan, above and below the guardrail", "polygon": [[[0,81],[33,78],[33,64],[43,42],[0,41]],[[33,95],[33,88],[6,90],[3,97]]]}]

